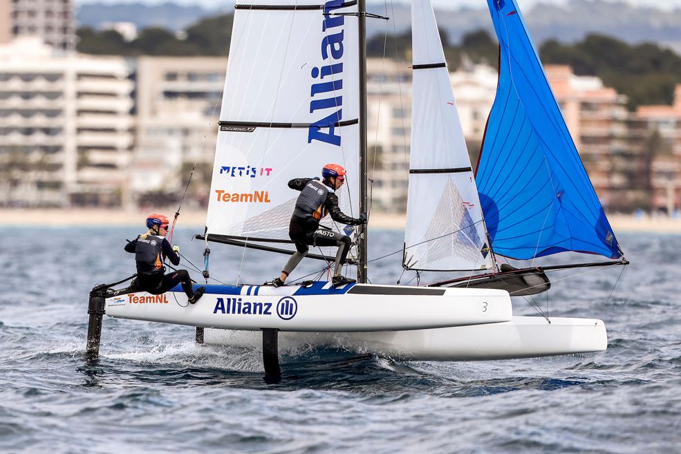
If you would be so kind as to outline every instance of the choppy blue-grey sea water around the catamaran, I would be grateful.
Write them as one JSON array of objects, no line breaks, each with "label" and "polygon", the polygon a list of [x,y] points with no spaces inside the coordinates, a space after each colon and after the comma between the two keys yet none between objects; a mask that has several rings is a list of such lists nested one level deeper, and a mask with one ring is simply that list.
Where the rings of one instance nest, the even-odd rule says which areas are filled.
[{"label": "choppy blue-grey sea water around the catamaran", "polygon": [[[299,345],[268,384],[259,350],[109,317],[100,362],[85,365],[88,291],[134,272],[123,245],[138,233],[0,229],[0,453],[681,453],[681,236],[619,234],[623,273],[571,269],[514,299],[514,314],[602,319],[605,352],[437,363]],[[192,233],[174,243],[203,269]],[[370,264],[371,281],[396,283],[402,232],[371,231],[371,244],[370,258],[395,252]],[[210,249],[224,283],[262,283],[286,262]],[[293,277],[319,267],[306,259]]]}]

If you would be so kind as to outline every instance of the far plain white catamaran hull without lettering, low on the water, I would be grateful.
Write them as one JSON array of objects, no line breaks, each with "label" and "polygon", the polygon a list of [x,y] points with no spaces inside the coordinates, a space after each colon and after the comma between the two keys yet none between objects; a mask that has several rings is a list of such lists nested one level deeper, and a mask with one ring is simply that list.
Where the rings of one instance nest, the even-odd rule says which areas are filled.
[{"label": "far plain white catamaran hull without lettering, low on the water", "polygon": [[[299,346],[347,348],[413,361],[485,361],[606,350],[605,324],[597,319],[514,316],[504,323],[385,332],[279,334],[279,349]],[[205,330],[205,343],[259,348],[255,332]]]}]

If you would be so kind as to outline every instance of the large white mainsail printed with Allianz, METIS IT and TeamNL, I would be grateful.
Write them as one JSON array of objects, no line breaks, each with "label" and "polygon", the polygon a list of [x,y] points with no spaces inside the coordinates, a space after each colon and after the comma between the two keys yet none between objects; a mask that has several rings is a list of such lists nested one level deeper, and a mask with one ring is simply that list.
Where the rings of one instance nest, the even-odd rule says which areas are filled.
[{"label": "large white mainsail printed with Allianz, METIS IT and TeamNL", "polygon": [[342,211],[357,216],[357,20],[338,15],[356,13],[356,2],[235,8],[207,234],[288,240],[299,194],[288,181],[319,176],[329,162],[348,171],[337,195]]}]

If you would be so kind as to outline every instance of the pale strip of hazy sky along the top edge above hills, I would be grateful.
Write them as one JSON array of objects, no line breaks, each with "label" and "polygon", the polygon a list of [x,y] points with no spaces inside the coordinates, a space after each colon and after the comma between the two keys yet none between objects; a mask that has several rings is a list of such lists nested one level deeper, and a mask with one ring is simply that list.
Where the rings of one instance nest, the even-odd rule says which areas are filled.
[{"label": "pale strip of hazy sky along the top edge above hills", "polygon": [[[76,4],[79,3],[165,3],[168,0],[75,0]],[[219,0],[173,0],[176,3],[182,3],[185,5],[201,5],[207,8],[215,8],[221,2]],[[382,1],[382,0],[369,0],[371,1]],[[409,3],[408,0],[393,0],[395,3]],[[566,3],[567,0],[517,0],[519,6],[523,10],[527,10],[530,6],[536,3]],[[672,9],[681,8],[681,0],[624,0],[626,3],[637,6],[655,6],[660,9]],[[230,1],[230,3],[232,3]],[[458,8],[460,6],[473,6],[483,8],[486,5],[485,0],[431,0],[433,6],[438,8]],[[225,2],[226,3],[226,2]]]}]

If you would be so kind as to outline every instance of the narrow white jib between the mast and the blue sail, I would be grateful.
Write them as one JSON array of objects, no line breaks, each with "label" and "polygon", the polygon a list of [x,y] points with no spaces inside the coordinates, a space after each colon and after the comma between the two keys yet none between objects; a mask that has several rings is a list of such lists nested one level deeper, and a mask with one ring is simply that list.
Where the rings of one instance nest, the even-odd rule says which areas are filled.
[{"label": "narrow white jib between the mast and the blue sail", "polygon": [[493,267],[466,141],[429,0],[412,3],[413,100],[404,266]]}]

